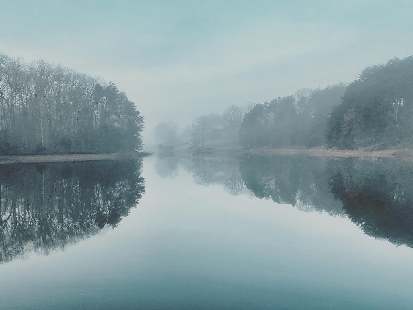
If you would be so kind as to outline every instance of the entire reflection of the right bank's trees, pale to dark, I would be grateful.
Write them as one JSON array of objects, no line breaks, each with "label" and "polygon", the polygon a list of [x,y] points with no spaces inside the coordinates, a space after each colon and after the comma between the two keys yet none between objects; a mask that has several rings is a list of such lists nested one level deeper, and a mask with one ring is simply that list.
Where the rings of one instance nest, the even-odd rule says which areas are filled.
[{"label": "entire reflection of the right bank's trees, pale to dark", "polygon": [[[173,158],[173,159],[171,159]],[[413,165],[397,160],[332,160],[306,156],[171,157],[200,185],[220,184],[231,195],[347,216],[372,237],[413,247]],[[162,159],[164,160],[164,159]]]}]

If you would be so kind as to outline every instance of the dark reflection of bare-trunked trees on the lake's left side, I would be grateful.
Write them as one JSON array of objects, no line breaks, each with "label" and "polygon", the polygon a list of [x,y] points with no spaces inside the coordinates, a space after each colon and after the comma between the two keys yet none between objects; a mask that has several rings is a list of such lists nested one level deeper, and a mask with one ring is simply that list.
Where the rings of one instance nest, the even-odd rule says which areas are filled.
[{"label": "dark reflection of bare-trunked trees on the lake's left side", "polygon": [[0,263],[116,227],[145,192],[142,162],[0,166]]}]

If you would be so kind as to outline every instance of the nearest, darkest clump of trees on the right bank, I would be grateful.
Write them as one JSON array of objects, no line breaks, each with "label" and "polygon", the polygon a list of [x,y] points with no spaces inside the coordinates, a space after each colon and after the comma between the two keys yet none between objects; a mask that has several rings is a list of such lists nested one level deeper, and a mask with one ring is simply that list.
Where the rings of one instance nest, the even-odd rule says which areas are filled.
[{"label": "nearest, darkest clump of trees on the right bank", "polygon": [[364,69],[328,122],[328,144],[387,147],[413,140],[413,56]]}]

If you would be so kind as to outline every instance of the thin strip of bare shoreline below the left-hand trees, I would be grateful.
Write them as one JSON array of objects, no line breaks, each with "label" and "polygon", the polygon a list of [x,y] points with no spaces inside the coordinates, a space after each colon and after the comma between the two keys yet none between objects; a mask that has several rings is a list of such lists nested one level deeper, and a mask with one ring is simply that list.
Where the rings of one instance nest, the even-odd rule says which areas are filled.
[{"label": "thin strip of bare shoreline below the left-hand trees", "polygon": [[36,164],[49,162],[87,162],[95,160],[127,160],[142,158],[150,155],[152,155],[152,153],[141,151],[53,155],[0,155],[0,165]]}]

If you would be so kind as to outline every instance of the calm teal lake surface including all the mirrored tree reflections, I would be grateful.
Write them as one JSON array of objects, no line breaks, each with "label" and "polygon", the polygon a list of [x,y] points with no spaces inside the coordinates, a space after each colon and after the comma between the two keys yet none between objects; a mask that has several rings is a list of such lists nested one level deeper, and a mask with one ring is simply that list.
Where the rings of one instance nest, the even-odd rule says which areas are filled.
[{"label": "calm teal lake surface including all the mirrored tree reflections", "polygon": [[0,167],[1,309],[412,309],[413,166]]}]

